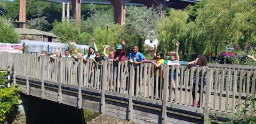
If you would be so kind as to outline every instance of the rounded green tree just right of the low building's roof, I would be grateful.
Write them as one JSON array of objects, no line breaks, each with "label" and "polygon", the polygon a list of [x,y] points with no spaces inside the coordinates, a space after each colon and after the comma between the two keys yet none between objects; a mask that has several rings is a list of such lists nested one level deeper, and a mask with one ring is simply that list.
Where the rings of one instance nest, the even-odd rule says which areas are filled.
[{"label": "rounded green tree just right of the low building's roof", "polygon": [[79,35],[79,28],[75,20],[55,21],[52,32],[61,38],[61,43],[76,42]]}]

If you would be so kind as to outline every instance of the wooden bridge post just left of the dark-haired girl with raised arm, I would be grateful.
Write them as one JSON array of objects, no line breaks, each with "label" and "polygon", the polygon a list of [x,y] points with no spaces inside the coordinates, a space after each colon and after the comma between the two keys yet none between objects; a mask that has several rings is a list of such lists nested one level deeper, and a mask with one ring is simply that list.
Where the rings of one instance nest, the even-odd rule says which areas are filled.
[{"label": "wooden bridge post just left of the dark-haired girl with raised arm", "polygon": [[78,80],[78,98],[77,98],[77,107],[78,109],[82,108],[82,84],[83,84],[83,59],[79,60],[79,80]]}]

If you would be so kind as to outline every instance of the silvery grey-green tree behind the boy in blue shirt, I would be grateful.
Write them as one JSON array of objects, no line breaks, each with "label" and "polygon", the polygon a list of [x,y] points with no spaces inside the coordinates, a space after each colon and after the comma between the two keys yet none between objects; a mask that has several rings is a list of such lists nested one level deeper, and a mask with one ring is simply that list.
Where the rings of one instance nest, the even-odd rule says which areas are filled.
[{"label": "silvery grey-green tree behind the boy in blue shirt", "polygon": [[127,18],[125,27],[145,39],[154,39],[154,29],[156,24],[160,21],[160,8],[154,7],[135,7],[127,8]]}]

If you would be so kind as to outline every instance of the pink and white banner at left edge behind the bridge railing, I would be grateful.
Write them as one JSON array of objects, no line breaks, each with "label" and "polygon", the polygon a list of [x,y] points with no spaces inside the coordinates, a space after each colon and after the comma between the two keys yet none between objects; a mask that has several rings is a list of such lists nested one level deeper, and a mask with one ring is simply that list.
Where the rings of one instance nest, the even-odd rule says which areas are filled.
[{"label": "pink and white banner at left edge behind the bridge railing", "polygon": [[5,53],[22,53],[23,45],[22,44],[8,44],[0,43],[0,52]]}]

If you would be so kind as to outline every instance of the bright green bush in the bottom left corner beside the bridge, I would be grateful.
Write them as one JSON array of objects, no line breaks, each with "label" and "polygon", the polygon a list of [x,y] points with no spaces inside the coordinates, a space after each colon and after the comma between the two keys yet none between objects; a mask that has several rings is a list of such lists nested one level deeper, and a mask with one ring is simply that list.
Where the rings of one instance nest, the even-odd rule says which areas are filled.
[{"label": "bright green bush in the bottom left corner beside the bridge", "polygon": [[13,105],[18,104],[19,90],[16,87],[0,88],[0,122],[3,122],[6,114],[12,111]]}]

